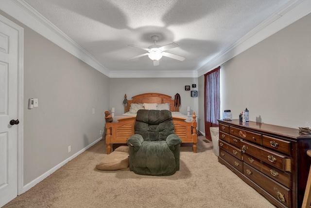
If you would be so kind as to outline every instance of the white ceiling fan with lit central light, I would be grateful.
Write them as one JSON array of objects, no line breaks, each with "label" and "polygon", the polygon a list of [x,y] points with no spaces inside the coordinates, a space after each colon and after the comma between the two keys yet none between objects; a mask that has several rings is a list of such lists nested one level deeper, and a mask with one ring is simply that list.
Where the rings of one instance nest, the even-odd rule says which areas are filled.
[{"label": "white ceiling fan with lit central light", "polygon": [[148,48],[137,46],[137,45],[128,45],[128,46],[131,46],[131,47],[136,47],[136,48],[140,48],[140,49],[148,51],[148,53],[141,54],[141,55],[138,55],[136,57],[132,57],[130,59],[138,58],[138,57],[143,57],[143,56],[147,56],[148,55],[148,57],[151,60],[154,61],[154,66],[159,65],[159,60],[160,60],[160,58],[162,56],[163,57],[174,58],[174,59],[180,60],[180,61],[185,60],[185,57],[165,52],[166,50],[179,47],[179,45],[177,43],[172,42],[172,43],[164,45],[164,46],[159,46],[159,45],[156,45],[156,41],[159,39],[159,37],[158,36],[152,36],[151,38],[155,41],[155,44],[149,46]]}]

